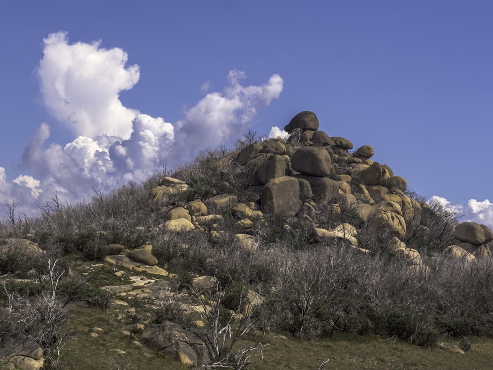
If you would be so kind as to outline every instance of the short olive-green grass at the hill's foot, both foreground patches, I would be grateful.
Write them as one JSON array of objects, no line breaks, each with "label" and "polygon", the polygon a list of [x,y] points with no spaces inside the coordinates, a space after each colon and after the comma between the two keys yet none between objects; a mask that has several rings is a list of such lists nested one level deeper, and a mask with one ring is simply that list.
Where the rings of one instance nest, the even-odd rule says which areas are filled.
[{"label": "short olive-green grass at the hill's foot, both foreground patches", "polygon": [[[109,365],[112,349],[126,352],[123,357],[129,370],[187,369],[180,364],[160,356],[145,345],[138,346],[139,334],[122,333],[124,321],[118,315],[126,314],[128,307],[112,306],[110,311],[97,308],[71,307],[67,330],[74,337],[65,347],[62,357],[71,369],[113,369]],[[93,328],[103,332],[91,336]],[[375,335],[336,335],[333,339],[303,341],[294,338],[271,338],[262,356],[254,358],[250,370],[310,370],[318,369],[323,359],[328,359],[325,369],[434,369],[434,370],[480,370],[491,368],[493,340],[472,338],[472,353],[455,354],[440,348],[425,349],[402,340]],[[442,337],[440,340],[449,341]],[[458,344],[458,340],[450,342]]]}]

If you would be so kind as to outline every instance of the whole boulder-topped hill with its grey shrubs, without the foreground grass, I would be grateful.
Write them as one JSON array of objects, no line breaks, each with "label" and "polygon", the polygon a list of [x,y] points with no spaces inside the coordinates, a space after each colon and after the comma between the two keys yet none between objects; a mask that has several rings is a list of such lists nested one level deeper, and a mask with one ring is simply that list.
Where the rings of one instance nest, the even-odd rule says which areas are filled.
[{"label": "whole boulder-topped hill with its grey shrubs, without the foreground grass", "polygon": [[[55,200],[37,220],[4,225],[0,360],[62,369],[73,302],[112,312],[134,345],[205,369],[246,369],[266,333],[377,333],[427,347],[439,334],[493,335],[490,228],[457,223],[374,162],[371,145],[318,128],[302,111],[287,140],[250,137],[87,207]],[[86,261],[80,275],[55,268],[72,256]],[[87,270],[104,268],[130,277],[81,289]],[[254,344],[234,345],[252,333]]]}]

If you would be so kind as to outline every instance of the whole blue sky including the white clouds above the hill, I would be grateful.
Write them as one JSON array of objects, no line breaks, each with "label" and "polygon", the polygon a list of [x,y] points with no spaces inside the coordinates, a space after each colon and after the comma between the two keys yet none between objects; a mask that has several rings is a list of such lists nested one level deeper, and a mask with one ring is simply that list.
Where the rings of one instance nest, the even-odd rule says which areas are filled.
[{"label": "whole blue sky including the white clouds above the hill", "polygon": [[493,224],[491,1],[0,7],[0,205],[89,199],[310,110],[425,198]]}]

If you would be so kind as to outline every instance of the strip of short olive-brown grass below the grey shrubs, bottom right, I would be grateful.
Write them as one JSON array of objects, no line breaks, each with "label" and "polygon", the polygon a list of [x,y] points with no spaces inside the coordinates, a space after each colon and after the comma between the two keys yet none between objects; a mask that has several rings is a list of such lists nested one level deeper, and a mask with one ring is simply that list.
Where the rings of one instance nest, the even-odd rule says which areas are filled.
[{"label": "strip of short olive-brown grass below the grey shrubs, bottom right", "polygon": [[[446,340],[446,338],[441,338]],[[457,341],[455,344],[458,344]],[[377,336],[348,335],[335,339],[302,341],[275,338],[266,347],[263,358],[257,357],[251,370],[318,369],[323,359],[325,369],[491,369],[493,340],[474,338],[472,353],[464,355],[443,349],[425,349],[402,340]]]}]

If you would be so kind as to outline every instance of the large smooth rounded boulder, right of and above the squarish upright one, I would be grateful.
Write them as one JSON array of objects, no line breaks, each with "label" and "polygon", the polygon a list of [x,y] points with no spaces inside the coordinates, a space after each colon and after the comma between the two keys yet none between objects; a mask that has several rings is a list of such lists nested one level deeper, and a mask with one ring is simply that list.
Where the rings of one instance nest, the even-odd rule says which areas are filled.
[{"label": "large smooth rounded boulder, right of and above the squarish upright one", "polygon": [[327,150],[320,147],[303,147],[296,150],[291,158],[293,170],[310,176],[330,174],[332,161]]}]

